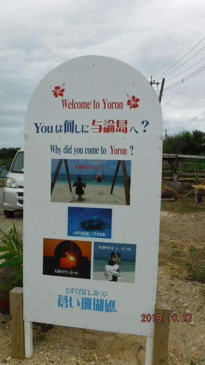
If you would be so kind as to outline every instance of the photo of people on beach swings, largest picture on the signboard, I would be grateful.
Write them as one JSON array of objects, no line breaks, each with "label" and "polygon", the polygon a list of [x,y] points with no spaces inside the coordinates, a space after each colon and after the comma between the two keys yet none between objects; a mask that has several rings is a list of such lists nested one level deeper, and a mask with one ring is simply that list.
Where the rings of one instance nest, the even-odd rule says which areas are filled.
[{"label": "photo of people on beach swings, largest picture on the signboard", "polygon": [[130,160],[51,160],[51,202],[130,205]]}]

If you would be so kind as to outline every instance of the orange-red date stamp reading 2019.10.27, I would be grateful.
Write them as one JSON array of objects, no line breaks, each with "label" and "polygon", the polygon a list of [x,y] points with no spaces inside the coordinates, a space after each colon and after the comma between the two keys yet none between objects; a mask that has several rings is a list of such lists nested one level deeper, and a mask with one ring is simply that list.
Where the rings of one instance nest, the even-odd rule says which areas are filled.
[{"label": "orange-red date stamp reading 2019.10.27", "polygon": [[[163,316],[161,315],[161,313],[157,313],[157,314],[145,314],[145,313],[142,313],[141,315],[141,322],[142,323],[146,323],[146,322],[165,322],[165,318],[163,318]],[[191,322],[192,320],[192,313],[182,313],[182,315],[180,315],[180,317],[176,315],[176,313],[169,313],[167,315],[167,320],[168,322],[183,322],[183,323],[186,323],[186,322]],[[166,321],[167,321],[166,320]]]}]

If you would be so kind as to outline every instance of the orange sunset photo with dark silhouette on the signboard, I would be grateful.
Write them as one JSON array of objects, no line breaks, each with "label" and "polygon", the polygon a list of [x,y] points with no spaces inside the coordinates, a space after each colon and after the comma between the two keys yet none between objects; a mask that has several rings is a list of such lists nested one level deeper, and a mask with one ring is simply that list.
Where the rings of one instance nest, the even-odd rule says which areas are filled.
[{"label": "orange sunset photo with dark silhouette on the signboard", "polygon": [[90,241],[44,238],[44,275],[90,279],[90,271]]}]

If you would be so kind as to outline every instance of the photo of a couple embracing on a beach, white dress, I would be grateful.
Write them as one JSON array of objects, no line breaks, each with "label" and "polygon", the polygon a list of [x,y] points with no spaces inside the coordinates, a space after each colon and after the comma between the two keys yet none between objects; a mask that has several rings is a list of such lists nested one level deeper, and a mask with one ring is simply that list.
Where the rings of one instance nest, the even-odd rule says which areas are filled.
[{"label": "photo of a couple embracing on a beach, white dress", "polygon": [[94,242],[93,279],[134,283],[136,244]]}]

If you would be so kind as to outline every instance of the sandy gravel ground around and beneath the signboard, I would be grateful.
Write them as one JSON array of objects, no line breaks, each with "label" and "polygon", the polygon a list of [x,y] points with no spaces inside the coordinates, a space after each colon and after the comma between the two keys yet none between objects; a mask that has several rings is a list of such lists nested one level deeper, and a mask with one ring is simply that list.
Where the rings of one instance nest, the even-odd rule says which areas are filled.
[{"label": "sandy gravel ground around and beneath the signboard", "polygon": [[[205,285],[187,279],[179,256],[181,249],[186,256],[190,245],[204,247],[204,213],[161,212],[157,300],[169,304],[171,314],[180,319],[170,323],[169,365],[205,365]],[[1,228],[8,231],[12,223],[22,230],[22,213],[14,219],[0,215]],[[182,323],[183,313],[193,313],[192,321]],[[9,316],[0,314],[0,364],[142,365],[145,361],[144,337],[63,326],[43,332],[40,326],[33,327],[33,358],[11,359]]]}]

